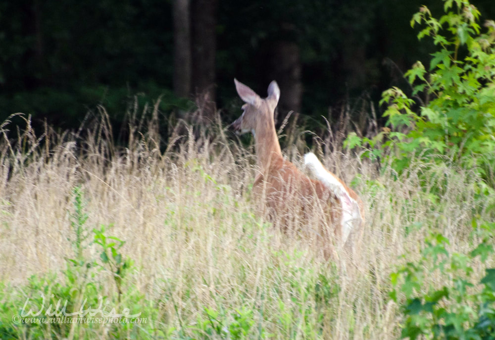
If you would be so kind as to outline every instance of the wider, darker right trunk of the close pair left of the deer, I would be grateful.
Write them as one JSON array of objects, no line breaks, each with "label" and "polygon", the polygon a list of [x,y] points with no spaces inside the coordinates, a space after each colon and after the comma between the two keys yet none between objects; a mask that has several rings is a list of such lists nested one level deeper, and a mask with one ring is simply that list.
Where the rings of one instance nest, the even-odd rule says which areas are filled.
[{"label": "wider, darker right trunk of the close pair left of the deer", "polygon": [[192,1],[193,78],[192,90],[199,107],[199,119],[215,114],[216,10],[218,0]]}]

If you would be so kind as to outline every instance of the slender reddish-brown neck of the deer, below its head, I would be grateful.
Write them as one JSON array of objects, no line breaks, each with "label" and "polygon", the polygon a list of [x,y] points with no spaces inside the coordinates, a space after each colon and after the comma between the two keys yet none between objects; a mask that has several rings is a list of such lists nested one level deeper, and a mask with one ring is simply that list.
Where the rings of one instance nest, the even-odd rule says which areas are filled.
[{"label": "slender reddish-brown neck of the deer, below its head", "polygon": [[255,129],[254,142],[258,166],[263,173],[267,173],[272,164],[283,159],[273,121]]}]

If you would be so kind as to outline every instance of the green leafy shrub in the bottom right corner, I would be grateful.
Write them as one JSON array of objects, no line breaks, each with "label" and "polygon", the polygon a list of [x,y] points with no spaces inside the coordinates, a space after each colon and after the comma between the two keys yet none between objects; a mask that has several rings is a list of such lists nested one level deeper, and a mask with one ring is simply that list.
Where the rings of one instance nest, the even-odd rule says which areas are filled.
[{"label": "green leafy shrub in the bottom right corner", "polygon": [[[482,228],[493,235],[495,224]],[[479,263],[494,253],[492,243],[486,237],[468,254],[450,253],[444,236],[431,235],[420,260],[391,275],[391,297],[404,314],[401,338],[494,339],[495,269],[486,269],[479,282],[473,278]],[[450,278],[440,287],[431,280],[439,272]]]}]

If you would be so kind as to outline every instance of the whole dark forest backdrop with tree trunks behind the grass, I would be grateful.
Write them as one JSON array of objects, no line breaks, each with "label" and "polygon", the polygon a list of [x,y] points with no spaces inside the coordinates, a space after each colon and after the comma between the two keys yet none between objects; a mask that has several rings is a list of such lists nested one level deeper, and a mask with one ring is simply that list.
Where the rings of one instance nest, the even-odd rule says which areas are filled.
[{"label": "whole dark forest backdrop with tree trunks behind the grass", "polygon": [[[409,25],[422,4],[443,13],[441,0],[1,1],[0,121],[23,112],[71,129],[102,105],[121,124],[135,98],[161,96],[164,121],[196,105],[229,123],[234,78],[261,96],[275,79],[280,111],[333,119],[428,64],[433,46]],[[494,18],[495,1],[473,4]]]}]

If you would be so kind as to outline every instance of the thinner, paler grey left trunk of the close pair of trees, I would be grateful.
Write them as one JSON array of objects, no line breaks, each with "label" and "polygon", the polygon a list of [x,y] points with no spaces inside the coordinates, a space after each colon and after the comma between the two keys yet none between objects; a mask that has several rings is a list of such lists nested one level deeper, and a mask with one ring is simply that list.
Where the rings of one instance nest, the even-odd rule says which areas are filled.
[{"label": "thinner, paler grey left trunk of the close pair of trees", "polygon": [[191,95],[191,16],[189,0],[173,0],[174,21],[174,93]]}]

